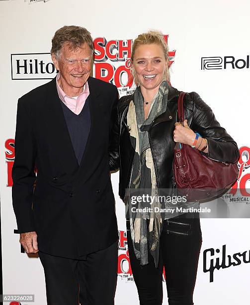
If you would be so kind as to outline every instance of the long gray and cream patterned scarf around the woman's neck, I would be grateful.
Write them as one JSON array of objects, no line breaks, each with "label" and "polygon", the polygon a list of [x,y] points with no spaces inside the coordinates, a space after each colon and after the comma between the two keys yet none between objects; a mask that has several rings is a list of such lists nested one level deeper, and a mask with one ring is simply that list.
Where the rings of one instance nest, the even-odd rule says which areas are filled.
[{"label": "long gray and cream patterned scarf around the woman's neck", "polygon": [[[150,204],[131,202],[132,196],[149,195],[157,198],[158,190],[156,174],[149,143],[149,128],[152,122],[167,110],[168,84],[163,81],[157,95],[154,97],[148,118],[144,120],[144,98],[140,87],[135,90],[134,100],[130,102],[127,125],[131,144],[135,149],[133,168],[130,180],[129,194],[126,197],[126,217],[130,219],[130,230],[134,251],[141,265],[148,264],[148,247],[155,260],[159,262],[159,241],[163,220],[155,207],[162,207],[161,202],[153,199]],[[145,198],[145,197],[144,197]],[[165,204],[165,203],[164,203]],[[139,212],[138,209],[150,206],[152,211]],[[132,209],[133,207],[133,209]],[[164,207],[164,206],[163,206]],[[148,219],[148,226],[147,226]]]}]

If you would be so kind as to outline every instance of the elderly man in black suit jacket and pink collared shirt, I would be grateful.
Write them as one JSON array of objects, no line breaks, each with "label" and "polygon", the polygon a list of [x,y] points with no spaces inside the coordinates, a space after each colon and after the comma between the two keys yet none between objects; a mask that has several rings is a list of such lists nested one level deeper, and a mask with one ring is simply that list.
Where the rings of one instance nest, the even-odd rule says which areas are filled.
[{"label": "elderly man in black suit jacket and pink collared shirt", "polygon": [[85,28],[57,30],[51,54],[58,75],[17,106],[12,197],[20,243],[39,251],[47,304],[111,305],[118,235],[108,150],[118,93],[89,77]]}]

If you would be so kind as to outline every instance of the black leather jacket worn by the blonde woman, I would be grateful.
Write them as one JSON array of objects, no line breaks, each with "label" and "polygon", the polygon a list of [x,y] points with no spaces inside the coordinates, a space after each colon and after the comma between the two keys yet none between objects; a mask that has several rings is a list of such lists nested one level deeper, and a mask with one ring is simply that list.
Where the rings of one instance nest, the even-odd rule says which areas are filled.
[{"label": "black leather jacket worn by the blonde woman", "polygon": [[[155,165],[158,188],[171,189],[172,161],[175,143],[173,141],[174,123],[176,122],[177,99],[179,91],[169,88],[167,111],[158,116],[151,124],[149,141]],[[130,142],[127,127],[127,112],[133,95],[120,98],[117,106],[118,114],[113,128],[110,143],[110,169],[120,169],[119,195],[125,196],[134,157],[134,148]],[[218,161],[234,163],[239,158],[236,142],[220,126],[211,108],[202,101],[196,92],[186,94],[184,99],[185,119],[189,127],[207,139],[208,156]],[[115,115],[115,114],[114,114]]]}]

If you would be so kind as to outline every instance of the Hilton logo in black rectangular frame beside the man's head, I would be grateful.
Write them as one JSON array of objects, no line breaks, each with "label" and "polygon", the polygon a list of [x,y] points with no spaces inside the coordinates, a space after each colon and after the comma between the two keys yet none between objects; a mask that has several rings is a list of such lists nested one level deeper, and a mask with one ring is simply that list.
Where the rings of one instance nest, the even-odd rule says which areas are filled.
[{"label": "Hilton logo in black rectangular frame beside the man's head", "polygon": [[11,54],[11,79],[53,79],[56,74],[50,53]]}]

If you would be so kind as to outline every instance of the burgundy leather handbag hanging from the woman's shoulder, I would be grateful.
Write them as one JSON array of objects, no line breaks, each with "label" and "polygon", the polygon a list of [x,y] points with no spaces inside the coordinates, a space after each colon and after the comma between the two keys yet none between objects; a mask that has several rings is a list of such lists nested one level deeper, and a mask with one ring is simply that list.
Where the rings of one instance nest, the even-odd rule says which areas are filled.
[{"label": "burgundy leather handbag hanging from the woman's shoulder", "polygon": [[[183,125],[185,92],[178,97],[178,118]],[[186,144],[176,143],[173,158],[173,175],[177,188],[187,201],[210,201],[222,196],[237,181],[237,162],[213,160]]]}]

